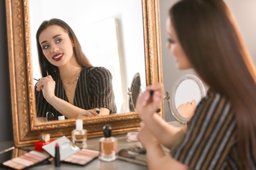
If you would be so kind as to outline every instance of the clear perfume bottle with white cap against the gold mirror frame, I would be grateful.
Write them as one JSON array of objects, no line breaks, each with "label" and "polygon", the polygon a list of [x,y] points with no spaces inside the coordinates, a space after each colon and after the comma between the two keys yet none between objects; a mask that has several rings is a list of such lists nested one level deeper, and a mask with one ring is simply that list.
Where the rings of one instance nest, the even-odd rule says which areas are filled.
[{"label": "clear perfume bottle with white cap against the gold mirror frame", "polygon": [[87,148],[87,130],[83,129],[83,120],[75,120],[75,129],[72,131],[72,142],[79,148]]}]

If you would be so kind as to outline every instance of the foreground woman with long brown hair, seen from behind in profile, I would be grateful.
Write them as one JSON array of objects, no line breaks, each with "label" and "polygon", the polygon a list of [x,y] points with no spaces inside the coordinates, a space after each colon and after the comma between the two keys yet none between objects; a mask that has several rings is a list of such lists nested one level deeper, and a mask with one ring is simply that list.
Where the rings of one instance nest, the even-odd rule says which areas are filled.
[{"label": "foreground woman with long brown hair, seen from behind in profile", "polygon": [[[178,68],[194,68],[210,88],[181,129],[154,113],[163,99],[162,84],[140,95],[138,139],[147,150],[148,166],[255,169],[255,66],[230,10],[221,0],[179,1],[169,10],[167,31]],[[160,144],[171,148],[170,154]]]}]

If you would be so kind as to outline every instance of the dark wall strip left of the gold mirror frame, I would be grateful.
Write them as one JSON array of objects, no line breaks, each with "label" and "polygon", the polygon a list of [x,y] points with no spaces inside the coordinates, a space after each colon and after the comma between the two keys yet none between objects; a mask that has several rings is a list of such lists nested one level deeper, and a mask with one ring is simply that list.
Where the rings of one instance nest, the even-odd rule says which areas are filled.
[{"label": "dark wall strip left of the gold mirror frame", "polygon": [[11,141],[12,110],[5,1],[0,1],[0,142]]}]

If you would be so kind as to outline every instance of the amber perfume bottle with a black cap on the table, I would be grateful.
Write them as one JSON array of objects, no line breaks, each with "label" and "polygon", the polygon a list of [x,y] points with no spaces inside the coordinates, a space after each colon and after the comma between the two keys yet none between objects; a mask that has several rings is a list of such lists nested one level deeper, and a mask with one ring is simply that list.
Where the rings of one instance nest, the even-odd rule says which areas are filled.
[{"label": "amber perfume bottle with a black cap on the table", "polygon": [[104,137],[100,138],[100,155],[102,161],[114,161],[117,158],[117,140],[111,136],[111,126],[103,127]]}]

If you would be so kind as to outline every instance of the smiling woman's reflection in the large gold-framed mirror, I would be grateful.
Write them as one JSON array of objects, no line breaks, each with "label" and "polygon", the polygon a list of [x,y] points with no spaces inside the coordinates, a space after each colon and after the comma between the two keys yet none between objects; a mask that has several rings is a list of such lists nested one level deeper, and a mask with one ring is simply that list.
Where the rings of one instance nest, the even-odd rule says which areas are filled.
[{"label": "smiling woman's reflection in the large gold-framed mirror", "polygon": [[47,112],[55,120],[116,112],[110,71],[91,65],[68,24],[55,18],[44,21],[36,40],[43,76],[35,86],[37,117]]}]

